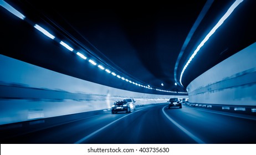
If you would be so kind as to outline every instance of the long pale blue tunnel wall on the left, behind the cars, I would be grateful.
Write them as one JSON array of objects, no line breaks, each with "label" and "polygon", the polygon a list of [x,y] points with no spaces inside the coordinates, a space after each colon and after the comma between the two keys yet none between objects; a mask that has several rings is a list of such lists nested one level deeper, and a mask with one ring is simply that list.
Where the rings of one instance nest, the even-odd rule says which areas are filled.
[{"label": "long pale blue tunnel wall on the left, behind the cars", "polygon": [[107,110],[132,97],[136,105],[167,102],[170,97],[115,89],[0,55],[0,125],[39,118]]}]

